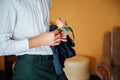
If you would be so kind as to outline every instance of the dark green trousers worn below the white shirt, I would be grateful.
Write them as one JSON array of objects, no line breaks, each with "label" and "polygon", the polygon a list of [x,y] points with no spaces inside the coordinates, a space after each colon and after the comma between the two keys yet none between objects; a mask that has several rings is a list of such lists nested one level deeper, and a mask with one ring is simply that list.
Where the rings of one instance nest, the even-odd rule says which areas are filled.
[{"label": "dark green trousers worn below the white shirt", "polygon": [[65,74],[57,76],[50,55],[18,56],[13,80],[67,80]]}]

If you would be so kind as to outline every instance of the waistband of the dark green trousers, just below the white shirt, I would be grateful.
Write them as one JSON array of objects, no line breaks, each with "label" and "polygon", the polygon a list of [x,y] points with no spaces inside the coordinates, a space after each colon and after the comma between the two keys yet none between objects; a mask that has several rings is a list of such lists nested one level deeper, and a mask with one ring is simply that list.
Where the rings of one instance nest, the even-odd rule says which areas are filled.
[{"label": "waistband of the dark green trousers, just below the white shirt", "polygon": [[17,56],[17,60],[31,61],[31,62],[50,62],[53,60],[53,55],[21,55]]}]

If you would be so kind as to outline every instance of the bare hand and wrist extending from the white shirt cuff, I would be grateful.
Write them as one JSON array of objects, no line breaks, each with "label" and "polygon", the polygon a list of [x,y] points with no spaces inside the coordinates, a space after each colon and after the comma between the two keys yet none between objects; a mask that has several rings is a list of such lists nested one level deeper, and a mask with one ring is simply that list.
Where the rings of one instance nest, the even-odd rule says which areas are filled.
[{"label": "bare hand and wrist extending from the white shirt cuff", "polygon": [[59,30],[55,30],[52,32],[45,32],[39,36],[33,37],[29,39],[29,47],[37,47],[37,46],[55,46],[59,45],[61,40],[62,33]]}]

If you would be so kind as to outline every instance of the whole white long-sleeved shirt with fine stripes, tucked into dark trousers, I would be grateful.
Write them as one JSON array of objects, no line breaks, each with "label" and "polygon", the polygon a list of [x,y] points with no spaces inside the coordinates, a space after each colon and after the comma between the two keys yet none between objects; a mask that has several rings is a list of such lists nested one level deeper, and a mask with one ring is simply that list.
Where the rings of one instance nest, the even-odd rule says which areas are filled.
[{"label": "whole white long-sleeved shirt with fine stripes, tucked into dark trousers", "polygon": [[51,0],[0,0],[0,55],[52,55],[50,46],[29,49],[28,39],[49,31]]}]

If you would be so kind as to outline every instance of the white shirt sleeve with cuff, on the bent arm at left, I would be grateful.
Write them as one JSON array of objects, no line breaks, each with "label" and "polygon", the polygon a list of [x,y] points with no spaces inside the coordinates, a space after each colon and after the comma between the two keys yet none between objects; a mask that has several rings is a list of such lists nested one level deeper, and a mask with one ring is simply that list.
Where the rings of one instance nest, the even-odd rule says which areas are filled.
[{"label": "white shirt sleeve with cuff, on the bent arm at left", "polygon": [[13,38],[16,11],[10,1],[0,0],[0,56],[19,55],[29,50],[28,39],[18,41]]}]

